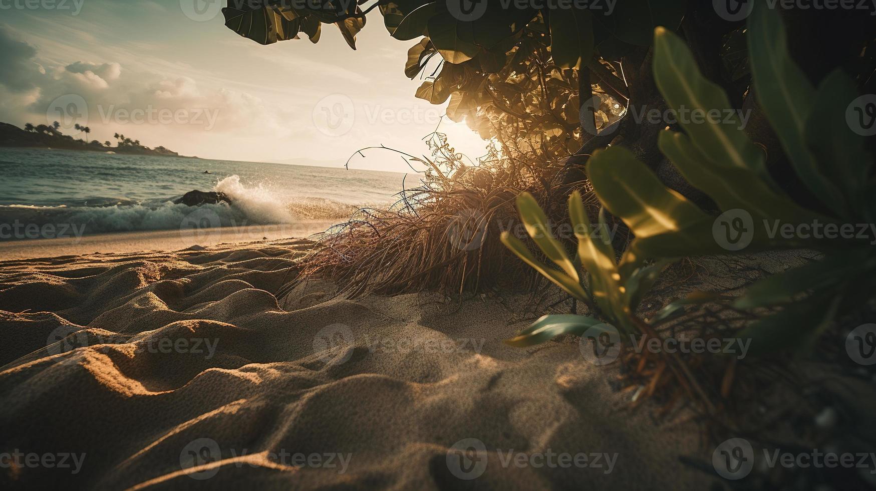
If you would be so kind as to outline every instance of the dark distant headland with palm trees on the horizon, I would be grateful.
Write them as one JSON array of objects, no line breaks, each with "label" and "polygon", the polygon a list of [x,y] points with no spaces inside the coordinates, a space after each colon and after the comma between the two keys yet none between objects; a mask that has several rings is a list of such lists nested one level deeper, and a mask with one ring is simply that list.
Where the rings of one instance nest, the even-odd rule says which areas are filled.
[{"label": "dark distant headland with palm trees on the horizon", "polygon": [[[91,132],[88,126],[75,125],[74,128],[86,135]],[[197,157],[187,157],[173,152],[164,146],[156,146],[149,148],[148,146],[140,145],[140,140],[126,138],[124,135],[116,133],[114,138],[117,140],[116,146],[112,146],[109,140],[103,143],[95,140],[88,142],[86,139],[74,139],[70,135],[65,135],[60,132],[60,123],[55,121],[52,125],[32,125],[28,123],[24,129],[16,125],[8,123],[0,123],[0,146],[20,146],[30,148],[59,148],[62,150],[84,150],[88,152],[113,152],[135,155],[163,155],[165,157],[182,157],[186,159],[197,159]]]}]

